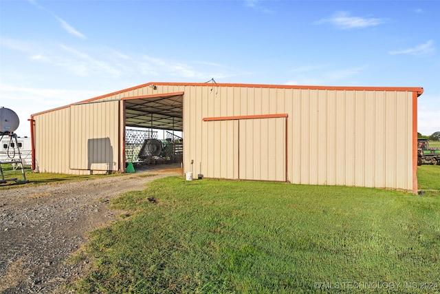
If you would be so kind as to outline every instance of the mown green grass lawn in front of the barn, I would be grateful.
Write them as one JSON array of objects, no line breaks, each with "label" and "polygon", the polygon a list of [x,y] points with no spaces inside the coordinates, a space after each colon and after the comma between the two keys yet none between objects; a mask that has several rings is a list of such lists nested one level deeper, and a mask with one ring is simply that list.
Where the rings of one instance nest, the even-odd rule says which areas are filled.
[{"label": "mown green grass lawn in front of the barn", "polygon": [[76,293],[440,291],[438,194],[170,177],[111,205]]}]

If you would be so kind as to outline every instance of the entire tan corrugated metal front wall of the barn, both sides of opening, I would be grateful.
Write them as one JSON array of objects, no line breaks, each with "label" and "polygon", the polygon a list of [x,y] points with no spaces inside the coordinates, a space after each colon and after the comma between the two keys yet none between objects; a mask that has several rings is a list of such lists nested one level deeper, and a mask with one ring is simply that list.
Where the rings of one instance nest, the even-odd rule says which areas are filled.
[{"label": "entire tan corrugated metal front wall of the barn, both sides of opening", "polygon": [[[184,171],[203,174],[206,178],[413,189],[412,139],[415,130],[412,129],[412,103],[415,90],[307,89],[214,83],[155,85],[156,90],[146,84],[98,100],[184,92]],[[72,173],[69,160],[72,167],[78,168],[74,171],[78,173],[83,172],[79,168],[86,166],[101,169],[104,168],[101,165],[106,165],[105,168],[111,165],[111,169],[116,169],[116,165],[121,164],[115,163],[118,162],[116,154],[122,158],[119,147],[118,151],[113,149],[109,165],[107,159],[111,156],[107,151],[105,159],[101,160],[107,160],[106,163],[94,162],[91,166],[69,151],[69,144],[79,152],[85,145],[85,138],[107,138],[107,135],[113,148],[122,144],[114,140],[121,140],[123,136],[115,131],[124,127],[123,121],[115,123],[114,120],[123,120],[123,107],[103,109],[100,106],[105,105],[103,103],[92,104],[83,106],[82,110],[72,108],[78,118],[70,117],[69,108],[34,117],[36,163],[40,171]],[[89,107],[96,108],[91,110]],[[85,116],[80,118],[80,114]],[[240,118],[260,114],[286,114],[286,117],[274,119],[275,123],[272,118],[266,121]],[[203,118],[220,119],[204,121]],[[94,127],[90,126],[87,131],[85,122]],[[110,123],[112,130],[93,133],[96,132],[93,129],[102,127],[101,122]],[[70,135],[65,125],[71,123],[81,126],[81,132],[89,132],[87,136]],[[45,138],[47,134],[51,134],[51,140]],[[101,149],[99,146],[92,149]],[[56,155],[58,152],[61,156]],[[84,160],[85,156],[81,158]],[[96,156],[94,158],[99,161]],[[63,160],[63,164],[56,160]],[[273,162],[276,163],[272,165]],[[263,170],[267,174],[263,174]]]}]

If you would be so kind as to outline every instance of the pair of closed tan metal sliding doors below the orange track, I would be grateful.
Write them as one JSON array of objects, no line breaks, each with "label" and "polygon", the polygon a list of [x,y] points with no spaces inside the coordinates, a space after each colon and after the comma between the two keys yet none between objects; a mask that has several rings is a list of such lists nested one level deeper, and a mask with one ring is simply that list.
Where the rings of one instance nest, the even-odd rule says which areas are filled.
[{"label": "pair of closed tan metal sliding doors below the orange track", "polygon": [[203,174],[203,162],[210,178],[285,181],[285,121],[245,118],[207,122],[206,152],[202,152],[197,170]]}]

